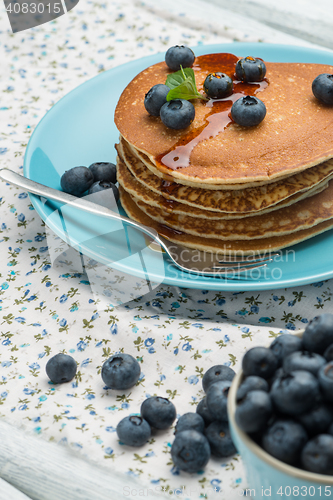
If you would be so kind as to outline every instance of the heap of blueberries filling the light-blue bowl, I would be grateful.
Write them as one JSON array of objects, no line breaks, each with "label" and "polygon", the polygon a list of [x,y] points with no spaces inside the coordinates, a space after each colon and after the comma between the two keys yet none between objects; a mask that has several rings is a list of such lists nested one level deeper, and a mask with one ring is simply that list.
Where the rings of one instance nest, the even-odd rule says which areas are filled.
[{"label": "heap of blueberries filling the light-blue bowl", "polygon": [[265,452],[332,475],[333,315],[315,317],[302,337],[282,334],[248,350],[235,399],[234,421]]}]

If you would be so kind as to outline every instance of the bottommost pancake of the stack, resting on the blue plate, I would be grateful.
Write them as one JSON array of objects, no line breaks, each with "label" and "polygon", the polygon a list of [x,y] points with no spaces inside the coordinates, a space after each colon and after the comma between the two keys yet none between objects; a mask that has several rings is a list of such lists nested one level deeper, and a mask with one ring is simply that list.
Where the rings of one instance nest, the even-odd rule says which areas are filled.
[{"label": "bottommost pancake of the stack, resting on the blue plate", "polygon": [[262,238],[256,240],[218,240],[214,238],[203,238],[173,231],[151,219],[142,210],[138,208],[131,196],[120,187],[120,199],[122,206],[129,217],[133,220],[149,226],[168,240],[188,248],[194,248],[212,253],[221,253],[225,255],[259,255],[267,252],[274,252],[291,245],[296,245],[304,240],[312,238],[318,234],[333,228],[333,220],[329,219],[321,222],[309,229],[304,229],[285,236]]}]

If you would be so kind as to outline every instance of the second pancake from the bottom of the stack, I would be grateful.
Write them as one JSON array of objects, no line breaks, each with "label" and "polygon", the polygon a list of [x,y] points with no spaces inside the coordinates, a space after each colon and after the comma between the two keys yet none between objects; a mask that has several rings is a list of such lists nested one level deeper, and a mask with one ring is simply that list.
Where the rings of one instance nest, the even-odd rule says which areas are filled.
[{"label": "second pancake from the bottom of the stack", "polygon": [[309,229],[333,218],[333,181],[321,193],[290,207],[268,214],[236,220],[210,220],[168,213],[132,196],[137,206],[149,217],[177,231],[203,238],[252,240],[283,236]]}]

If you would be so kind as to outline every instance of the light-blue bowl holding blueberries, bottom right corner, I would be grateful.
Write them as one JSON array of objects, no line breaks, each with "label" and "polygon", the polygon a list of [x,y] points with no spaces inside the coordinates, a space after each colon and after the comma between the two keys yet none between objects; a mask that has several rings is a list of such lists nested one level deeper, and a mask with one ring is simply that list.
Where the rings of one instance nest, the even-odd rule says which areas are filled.
[{"label": "light-blue bowl holding blueberries, bottom right corner", "polygon": [[[302,333],[298,333],[302,335]],[[333,476],[315,474],[277,460],[258,446],[235,421],[236,392],[243,380],[240,370],[231,385],[228,395],[230,432],[235,446],[242,457],[247,488],[246,498],[306,498],[323,500],[333,498]]]}]

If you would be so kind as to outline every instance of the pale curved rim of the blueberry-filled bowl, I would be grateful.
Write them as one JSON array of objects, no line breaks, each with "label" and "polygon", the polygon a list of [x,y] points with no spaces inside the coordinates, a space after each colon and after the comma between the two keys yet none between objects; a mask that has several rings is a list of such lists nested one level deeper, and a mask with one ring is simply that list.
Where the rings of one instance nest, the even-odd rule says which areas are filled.
[{"label": "pale curved rim of the blueberry-filled bowl", "polygon": [[[291,334],[296,335],[298,337],[302,337],[303,333],[304,330],[299,330]],[[261,446],[256,444],[248,436],[246,432],[240,429],[240,427],[236,423],[235,411],[237,406],[236,393],[242,380],[243,380],[243,370],[240,369],[238,373],[236,373],[229,390],[228,416],[229,416],[229,424],[231,424],[238,438],[242,441],[243,445],[246,446],[246,448],[248,448],[257,458],[259,458],[259,460],[270,465],[273,469],[277,469],[279,472],[283,474],[286,474],[294,478],[296,477],[297,479],[302,479],[307,483],[311,482],[311,483],[327,484],[328,486],[333,486],[333,476],[325,474],[317,474],[315,472],[299,469],[292,465],[288,465],[284,462],[281,462],[277,458],[274,458],[272,455],[269,455],[269,453],[267,453],[263,448],[261,448]],[[246,467],[246,464],[244,465]]]}]

